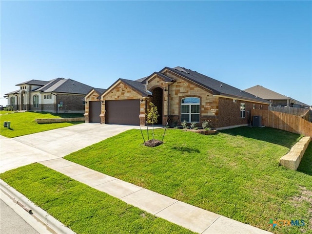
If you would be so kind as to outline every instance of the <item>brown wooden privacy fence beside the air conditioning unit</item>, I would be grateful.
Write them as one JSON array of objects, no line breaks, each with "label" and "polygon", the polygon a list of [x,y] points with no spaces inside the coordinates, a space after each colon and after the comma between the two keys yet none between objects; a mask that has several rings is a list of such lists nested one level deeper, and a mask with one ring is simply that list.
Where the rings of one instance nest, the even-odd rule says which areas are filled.
[{"label": "brown wooden privacy fence beside the air conditioning unit", "polygon": [[266,127],[312,137],[312,123],[299,116],[271,110],[252,109],[252,119],[253,116],[261,116],[261,123]]}]

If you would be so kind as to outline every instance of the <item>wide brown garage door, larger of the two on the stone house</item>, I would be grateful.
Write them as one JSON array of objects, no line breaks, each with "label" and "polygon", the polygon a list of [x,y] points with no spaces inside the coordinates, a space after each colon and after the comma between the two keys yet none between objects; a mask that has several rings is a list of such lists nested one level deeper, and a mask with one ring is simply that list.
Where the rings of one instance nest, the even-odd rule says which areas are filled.
[{"label": "wide brown garage door, larger of the two on the stone house", "polygon": [[140,125],[140,100],[105,101],[105,123]]}]

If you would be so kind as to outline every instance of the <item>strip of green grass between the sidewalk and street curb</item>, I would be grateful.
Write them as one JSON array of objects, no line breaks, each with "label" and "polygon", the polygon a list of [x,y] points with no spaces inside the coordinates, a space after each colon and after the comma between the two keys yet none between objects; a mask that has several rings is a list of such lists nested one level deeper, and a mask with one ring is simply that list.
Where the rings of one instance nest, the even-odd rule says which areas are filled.
[{"label": "strip of green grass between the sidewalk and street curb", "polygon": [[41,164],[0,175],[77,234],[192,234]]}]

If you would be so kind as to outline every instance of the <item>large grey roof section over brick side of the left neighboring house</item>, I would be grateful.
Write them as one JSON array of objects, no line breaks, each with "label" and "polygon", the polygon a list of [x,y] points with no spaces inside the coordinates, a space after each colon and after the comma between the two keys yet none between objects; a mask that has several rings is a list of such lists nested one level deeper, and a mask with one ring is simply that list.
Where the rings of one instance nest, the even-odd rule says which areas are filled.
[{"label": "large grey roof section over brick side of the left neighboring house", "polygon": [[47,89],[44,89],[44,93],[57,92],[57,93],[73,93],[73,94],[87,94],[92,87],[89,85],[82,84],[72,79],[59,78],[52,81],[51,85]]}]

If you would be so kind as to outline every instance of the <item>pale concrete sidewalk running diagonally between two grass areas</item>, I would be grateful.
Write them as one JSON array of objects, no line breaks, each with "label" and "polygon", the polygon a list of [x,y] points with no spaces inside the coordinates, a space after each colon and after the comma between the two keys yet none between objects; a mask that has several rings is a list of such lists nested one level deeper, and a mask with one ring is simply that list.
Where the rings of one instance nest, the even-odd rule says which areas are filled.
[{"label": "pale concrete sidewalk running diagonally between two grass areas", "polygon": [[40,164],[196,233],[269,234],[267,231],[149,191],[63,158],[41,161]]}]

